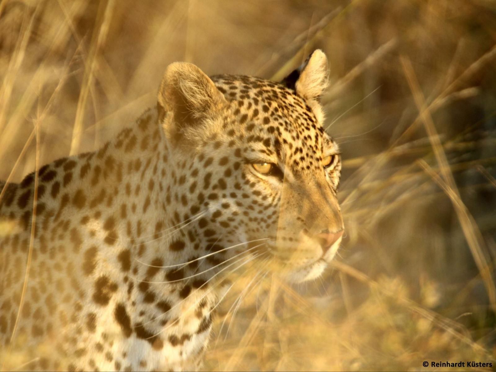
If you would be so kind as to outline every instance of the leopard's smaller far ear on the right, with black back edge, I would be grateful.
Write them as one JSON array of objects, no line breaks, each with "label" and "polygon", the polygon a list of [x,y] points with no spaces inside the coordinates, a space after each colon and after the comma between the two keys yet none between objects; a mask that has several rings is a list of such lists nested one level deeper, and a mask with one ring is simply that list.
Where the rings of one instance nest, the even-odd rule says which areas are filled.
[{"label": "leopard's smaller far ear on the right, with black back edge", "polygon": [[320,49],[315,50],[296,70],[281,83],[306,100],[318,100],[327,87],[329,69],[327,57]]}]

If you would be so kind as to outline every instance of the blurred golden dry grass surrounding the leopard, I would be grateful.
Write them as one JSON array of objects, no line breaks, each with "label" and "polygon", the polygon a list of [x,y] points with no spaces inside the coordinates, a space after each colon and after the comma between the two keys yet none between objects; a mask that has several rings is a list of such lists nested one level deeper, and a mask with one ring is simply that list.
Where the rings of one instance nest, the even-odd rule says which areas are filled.
[{"label": "blurred golden dry grass surrounding the leopard", "polygon": [[0,0],[0,179],[98,148],[170,62],[280,79],[315,48],[340,257],[300,286],[236,278],[205,370],[495,366],[495,1]]}]

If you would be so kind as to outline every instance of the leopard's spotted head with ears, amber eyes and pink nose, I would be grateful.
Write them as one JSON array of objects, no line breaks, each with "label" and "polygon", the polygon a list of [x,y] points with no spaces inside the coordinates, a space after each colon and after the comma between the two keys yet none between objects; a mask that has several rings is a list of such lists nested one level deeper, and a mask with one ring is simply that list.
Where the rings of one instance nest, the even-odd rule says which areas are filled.
[{"label": "leopard's spotted head with ears, amber eyes and pink nose", "polygon": [[[178,79],[184,85],[172,94],[167,81],[174,78],[162,85],[167,102],[182,103],[170,109],[176,121],[166,119],[166,131],[176,154],[194,154],[198,171],[187,189],[198,201],[190,212],[206,208],[197,231],[215,242],[223,259],[253,249],[270,256],[271,269],[301,282],[320,275],[334,257],[343,234],[336,199],[341,159],[318,103],[326,63],[322,52],[314,52],[294,72],[293,83],[233,75],[206,80],[194,66],[178,65],[175,73],[186,69],[199,81]],[[201,102],[207,107],[198,110],[188,89],[197,94],[208,84],[204,91],[211,95]],[[195,113],[185,115],[188,109]],[[204,113],[202,124],[191,121],[198,112]]]}]

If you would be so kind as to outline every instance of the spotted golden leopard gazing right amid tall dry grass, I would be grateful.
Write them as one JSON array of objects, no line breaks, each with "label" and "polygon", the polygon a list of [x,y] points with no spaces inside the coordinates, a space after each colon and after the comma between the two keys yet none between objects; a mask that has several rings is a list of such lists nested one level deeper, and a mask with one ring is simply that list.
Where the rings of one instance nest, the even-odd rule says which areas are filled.
[{"label": "spotted golden leopard gazing right amid tall dry grass", "polygon": [[227,272],[319,277],[344,232],[328,80],[318,49],[279,82],[173,62],[103,147],[2,182],[2,368],[198,370]]}]

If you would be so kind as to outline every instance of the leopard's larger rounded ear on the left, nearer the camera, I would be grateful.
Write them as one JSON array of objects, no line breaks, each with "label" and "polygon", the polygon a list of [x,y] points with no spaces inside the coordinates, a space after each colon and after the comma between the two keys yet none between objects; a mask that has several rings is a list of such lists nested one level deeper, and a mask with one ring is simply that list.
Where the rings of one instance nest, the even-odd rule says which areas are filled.
[{"label": "leopard's larger rounded ear on the left, nearer the camera", "polygon": [[[226,103],[214,82],[192,63],[174,62],[167,66],[158,91],[159,110],[171,112],[166,132],[177,140],[203,124]],[[169,127],[167,127],[169,126]]]}]

